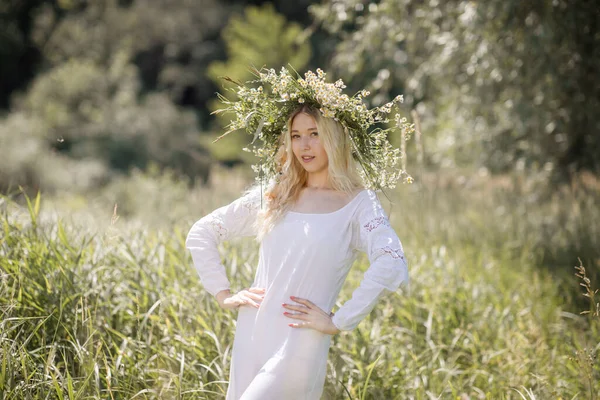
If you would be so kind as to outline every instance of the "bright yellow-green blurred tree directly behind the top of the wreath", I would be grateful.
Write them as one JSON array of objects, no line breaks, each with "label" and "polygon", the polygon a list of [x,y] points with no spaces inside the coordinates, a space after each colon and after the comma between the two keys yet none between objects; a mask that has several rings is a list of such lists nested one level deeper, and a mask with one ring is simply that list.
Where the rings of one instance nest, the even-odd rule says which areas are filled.
[{"label": "bright yellow-green blurred tree directly behind the top of the wreath", "polygon": [[[266,66],[278,70],[289,63],[300,71],[311,56],[307,35],[302,27],[295,22],[288,23],[270,3],[261,7],[248,6],[243,16],[232,16],[222,36],[228,58],[224,62],[211,63],[207,69],[208,76],[218,87],[228,85],[223,76],[240,82],[252,79],[252,67]],[[210,108],[218,110],[221,104],[214,99]],[[219,115],[217,121],[221,127],[225,127],[231,119]],[[249,161],[252,157],[241,152],[247,144],[247,137],[230,135],[211,145],[210,149],[218,159]]]}]

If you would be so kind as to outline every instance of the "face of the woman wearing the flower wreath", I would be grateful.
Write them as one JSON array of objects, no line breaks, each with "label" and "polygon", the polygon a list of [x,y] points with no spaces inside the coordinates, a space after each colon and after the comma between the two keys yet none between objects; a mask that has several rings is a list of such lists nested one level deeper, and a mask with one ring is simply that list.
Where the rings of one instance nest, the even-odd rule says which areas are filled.
[{"label": "face of the woman wearing the flower wreath", "polygon": [[292,120],[292,151],[300,165],[309,173],[327,171],[329,159],[319,140],[317,123],[308,114],[300,113]]}]

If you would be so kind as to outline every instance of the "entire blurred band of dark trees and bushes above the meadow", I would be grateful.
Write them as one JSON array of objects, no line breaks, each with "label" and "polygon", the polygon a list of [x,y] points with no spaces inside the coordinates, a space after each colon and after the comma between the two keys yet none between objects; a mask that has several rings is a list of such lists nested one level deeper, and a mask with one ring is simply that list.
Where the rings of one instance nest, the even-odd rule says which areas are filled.
[{"label": "entire blurred band of dark trees and bushes above the meadow", "polygon": [[430,167],[599,171],[592,0],[4,0],[0,13],[2,191],[150,165],[206,181],[248,157],[242,133],[212,144],[219,77],[288,63],[367,88],[372,105],[404,94]]}]

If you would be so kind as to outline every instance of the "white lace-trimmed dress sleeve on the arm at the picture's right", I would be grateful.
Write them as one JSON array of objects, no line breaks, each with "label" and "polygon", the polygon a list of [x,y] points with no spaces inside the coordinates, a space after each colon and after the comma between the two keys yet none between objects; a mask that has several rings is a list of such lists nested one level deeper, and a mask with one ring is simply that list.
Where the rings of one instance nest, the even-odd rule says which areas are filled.
[{"label": "white lace-trimmed dress sleeve on the arm at the picture's right", "polygon": [[353,330],[387,293],[409,282],[408,266],[400,239],[377,198],[369,191],[355,214],[353,247],[365,252],[370,266],[352,297],[332,317],[342,331]]}]

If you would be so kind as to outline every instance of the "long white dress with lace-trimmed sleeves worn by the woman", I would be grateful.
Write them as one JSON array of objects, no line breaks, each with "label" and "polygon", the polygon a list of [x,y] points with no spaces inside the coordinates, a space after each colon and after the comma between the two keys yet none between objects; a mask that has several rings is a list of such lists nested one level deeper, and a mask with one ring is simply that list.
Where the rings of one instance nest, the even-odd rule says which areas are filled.
[{"label": "long white dress with lace-trimmed sleeves worn by the woman", "polygon": [[[229,289],[217,245],[255,236],[258,191],[197,221],[186,247],[205,289],[213,296]],[[338,293],[358,252],[370,266],[332,322],[349,331],[367,316],[381,296],[408,283],[402,245],[376,194],[361,191],[341,209],[326,214],[288,212],[263,238],[251,287],[265,288],[259,308],[239,307],[227,400],[319,399],[323,392],[331,335],[283,315],[290,296],[312,301],[325,312]],[[235,277],[233,277],[235,278]]]}]

